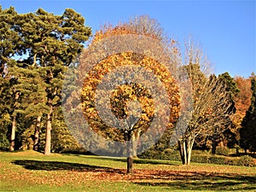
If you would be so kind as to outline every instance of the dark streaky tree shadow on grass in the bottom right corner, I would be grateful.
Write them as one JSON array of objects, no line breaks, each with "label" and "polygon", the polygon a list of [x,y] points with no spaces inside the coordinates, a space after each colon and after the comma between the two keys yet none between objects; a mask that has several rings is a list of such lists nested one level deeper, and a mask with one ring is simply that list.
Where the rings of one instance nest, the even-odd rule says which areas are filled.
[{"label": "dark streaky tree shadow on grass in the bottom right corner", "polygon": [[[183,174],[184,173],[184,174]],[[166,172],[166,174],[168,174]],[[143,186],[156,186],[163,189],[180,189],[180,190],[256,190],[255,176],[242,176],[237,174],[221,174],[221,173],[207,173],[207,172],[173,172],[169,174],[169,179],[161,179],[153,176],[153,180],[147,182],[135,182]],[[161,174],[165,177],[165,174]]]}]

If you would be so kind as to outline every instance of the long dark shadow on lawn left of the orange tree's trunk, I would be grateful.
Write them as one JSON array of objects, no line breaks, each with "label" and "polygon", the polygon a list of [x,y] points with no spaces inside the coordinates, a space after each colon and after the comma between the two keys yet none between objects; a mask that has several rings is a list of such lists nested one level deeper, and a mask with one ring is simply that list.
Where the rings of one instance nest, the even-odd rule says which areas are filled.
[{"label": "long dark shadow on lawn left of the orange tree's trunk", "polygon": [[40,160],[14,160],[12,162],[15,165],[23,166],[29,170],[68,170],[74,172],[117,172],[123,173],[119,169],[113,169],[105,166],[90,166],[79,163],[69,163],[61,161],[40,161]]}]

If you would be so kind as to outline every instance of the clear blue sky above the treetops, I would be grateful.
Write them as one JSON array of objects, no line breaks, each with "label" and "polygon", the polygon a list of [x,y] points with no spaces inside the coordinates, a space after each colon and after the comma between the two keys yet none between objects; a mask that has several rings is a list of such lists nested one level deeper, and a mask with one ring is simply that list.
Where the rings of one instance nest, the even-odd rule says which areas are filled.
[{"label": "clear blue sky above the treetops", "polygon": [[3,9],[18,13],[39,7],[55,15],[72,8],[95,32],[105,22],[116,23],[134,15],[149,15],[165,32],[183,43],[191,34],[215,66],[214,73],[248,77],[256,73],[255,1],[83,1],[0,0]]}]

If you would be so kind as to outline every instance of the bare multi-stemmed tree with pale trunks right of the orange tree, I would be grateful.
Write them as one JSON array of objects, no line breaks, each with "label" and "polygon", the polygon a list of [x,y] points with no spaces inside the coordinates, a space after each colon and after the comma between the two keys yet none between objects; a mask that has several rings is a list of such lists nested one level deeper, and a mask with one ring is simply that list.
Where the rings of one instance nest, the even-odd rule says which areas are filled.
[{"label": "bare multi-stemmed tree with pale trunks right of the orange tree", "polygon": [[184,68],[191,82],[193,109],[185,112],[191,113],[191,119],[183,119],[189,123],[178,136],[178,144],[183,164],[189,165],[195,138],[224,131],[230,125],[233,103],[224,82],[214,75],[209,76],[211,65],[201,49],[193,41],[185,48],[185,61],[189,63]]}]

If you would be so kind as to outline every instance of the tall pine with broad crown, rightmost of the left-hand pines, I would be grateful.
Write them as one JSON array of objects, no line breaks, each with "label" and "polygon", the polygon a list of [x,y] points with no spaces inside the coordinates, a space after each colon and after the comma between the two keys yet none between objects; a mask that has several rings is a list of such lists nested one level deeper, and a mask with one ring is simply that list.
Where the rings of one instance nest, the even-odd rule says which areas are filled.
[{"label": "tall pine with broad crown, rightmost of the left-hand pines", "polygon": [[54,108],[61,105],[64,73],[82,51],[91,29],[84,26],[84,18],[73,9],[66,9],[63,15],[38,9],[35,14],[20,17],[21,33],[29,50],[27,61],[38,66],[45,83],[45,104],[49,110],[44,154],[50,154],[52,116]]}]

